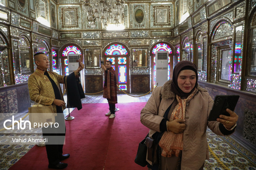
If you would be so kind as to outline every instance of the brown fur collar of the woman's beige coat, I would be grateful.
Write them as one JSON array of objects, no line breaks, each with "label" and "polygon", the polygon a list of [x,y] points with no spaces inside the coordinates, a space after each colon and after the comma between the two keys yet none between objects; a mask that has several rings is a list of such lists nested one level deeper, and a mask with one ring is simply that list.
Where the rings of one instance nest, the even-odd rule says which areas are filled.
[{"label": "brown fur collar of the woman's beige coat", "polygon": [[[175,97],[174,92],[172,92],[170,90],[171,83],[172,83],[172,80],[170,79],[170,80],[166,81],[165,84],[162,86],[161,95],[162,95],[162,98],[165,100],[167,100],[168,98]],[[200,87],[199,85],[197,86],[197,90],[198,91],[207,91],[206,89],[204,89],[203,87]]]}]

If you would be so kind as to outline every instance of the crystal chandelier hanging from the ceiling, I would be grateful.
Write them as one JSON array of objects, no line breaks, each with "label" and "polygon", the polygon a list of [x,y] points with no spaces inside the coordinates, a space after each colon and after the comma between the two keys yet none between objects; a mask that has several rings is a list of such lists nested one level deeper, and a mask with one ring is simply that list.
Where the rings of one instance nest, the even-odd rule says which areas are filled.
[{"label": "crystal chandelier hanging from the ceiling", "polygon": [[[102,23],[105,27],[113,23],[119,26],[124,12],[123,0],[82,0],[85,6],[86,18],[92,28],[95,23]],[[122,22],[122,21],[121,21]]]}]

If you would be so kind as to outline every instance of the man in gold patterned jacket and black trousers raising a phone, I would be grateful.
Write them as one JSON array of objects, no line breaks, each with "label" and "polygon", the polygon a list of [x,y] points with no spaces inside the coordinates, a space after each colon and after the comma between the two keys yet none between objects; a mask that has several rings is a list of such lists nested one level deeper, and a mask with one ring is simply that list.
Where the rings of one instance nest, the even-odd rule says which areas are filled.
[{"label": "man in gold patterned jacket and black trousers raising a phone", "polygon": [[[58,128],[42,128],[43,137],[53,137],[54,142],[49,145],[46,143],[46,152],[48,158],[48,168],[63,169],[68,166],[66,163],[61,163],[61,160],[69,158],[69,154],[62,154],[64,139],[65,139],[65,119],[63,110],[65,102],[60,89],[60,83],[64,84],[64,75],[59,75],[54,72],[48,72],[49,61],[48,57],[38,52],[34,54],[34,62],[37,65],[36,71],[28,78],[28,90],[32,101],[38,96],[38,102],[41,99],[40,104],[52,105],[55,115],[55,122],[59,124],[62,129]],[[80,77],[80,71],[84,69],[84,64],[80,62],[80,66],[75,70],[75,78]],[[60,132],[61,131],[61,132]],[[54,138],[55,137],[55,138]]]}]

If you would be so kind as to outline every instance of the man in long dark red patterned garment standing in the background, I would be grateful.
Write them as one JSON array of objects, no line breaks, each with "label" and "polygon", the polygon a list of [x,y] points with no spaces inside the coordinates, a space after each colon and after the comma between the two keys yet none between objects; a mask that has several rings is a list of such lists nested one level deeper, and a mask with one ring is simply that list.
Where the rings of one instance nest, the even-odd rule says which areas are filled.
[{"label": "man in long dark red patterned garment standing in the background", "polygon": [[[106,67],[105,67],[106,66]],[[103,97],[107,98],[110,111],[106,116],[110,115],[110,119],[116,117],[115,109],[117,103],[117,83],[116,83],[116,71],[113,69],[112,62],[106,61],[105,66],[101,63],[101,68],[104,72],[104,87]]]}]

